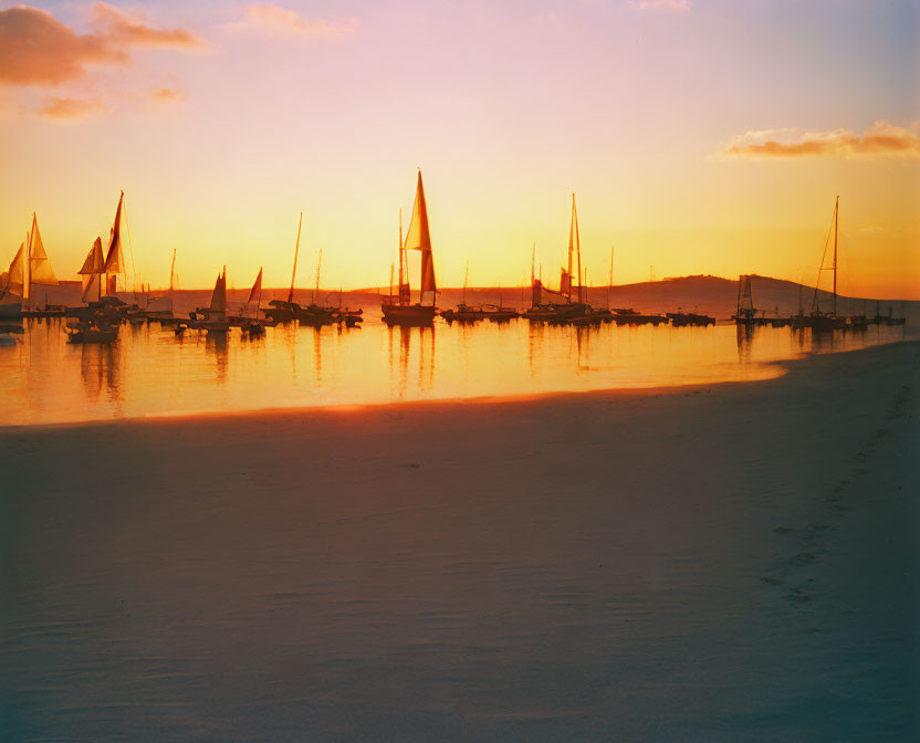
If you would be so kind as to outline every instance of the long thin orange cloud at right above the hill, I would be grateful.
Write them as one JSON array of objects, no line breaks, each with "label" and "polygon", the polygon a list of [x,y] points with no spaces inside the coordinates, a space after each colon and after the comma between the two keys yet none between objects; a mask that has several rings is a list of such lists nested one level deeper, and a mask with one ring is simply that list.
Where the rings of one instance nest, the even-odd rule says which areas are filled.
[{"label": "long thin orange cloud at right above the hill", "polygon": [[725,148],[724,157],[792,159],[797,157],[920,157],[920,122],[909,128],[876,122],[861,135],[849,129],[806,132],[761,129],[748,132]]}]

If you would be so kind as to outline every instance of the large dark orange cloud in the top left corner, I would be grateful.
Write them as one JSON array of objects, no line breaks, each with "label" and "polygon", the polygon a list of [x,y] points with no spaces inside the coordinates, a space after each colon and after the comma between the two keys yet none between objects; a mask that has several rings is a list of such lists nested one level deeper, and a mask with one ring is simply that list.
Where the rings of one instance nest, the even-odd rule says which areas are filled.
[{"label": "large dark orange cloud in the top left corner", "polygon": [[0,84],[56,87],[91,65],[128,66],[132,48],[196,48],[185,29],[160,30],[104,2],[91,9],[93,33],[77,34],[51,13],[20,6],[0,10]]}]

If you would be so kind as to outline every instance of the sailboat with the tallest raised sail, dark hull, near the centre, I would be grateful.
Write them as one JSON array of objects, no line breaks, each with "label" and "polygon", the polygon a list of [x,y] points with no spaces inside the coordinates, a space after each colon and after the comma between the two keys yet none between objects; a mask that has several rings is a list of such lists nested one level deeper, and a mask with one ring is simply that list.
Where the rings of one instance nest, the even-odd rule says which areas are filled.
[{"label": "sailboat with the tallest raised sail, dark hull, near the centre", "polygon": [[[408,268],[407,250],[418,250],[421,253],[421,276],[419,295],[416,304],[411,303],[411,289],[406,269]],[[404,269],[406,266],[406,269]],[[425,294],[430,292],[431,304],[425,304]],[[396,302],[390,296],[388,302],[380,304],[384,322],[387,325],[430,325],[438,308],[435,306],[438,287],[435,281],[435,262],[431,257],[431,236],[428,231],[428,207],[425,203],[425,187],[421,182],[421,170],[418,171],[416,186],[416,201],[412,217],[409,220],[409,231],[402,241],[402,223],[399,224],[399,291]]]}]

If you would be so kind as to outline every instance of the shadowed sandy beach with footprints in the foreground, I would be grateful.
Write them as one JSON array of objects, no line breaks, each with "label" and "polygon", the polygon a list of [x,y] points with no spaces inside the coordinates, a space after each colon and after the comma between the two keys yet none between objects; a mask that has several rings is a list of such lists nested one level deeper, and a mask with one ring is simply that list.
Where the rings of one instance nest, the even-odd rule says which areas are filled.
[{"label": "shadowed sandy beach with footprints in the foreground", "polygon": [[918,734],[920,343],[0,429],[4,741]]}]

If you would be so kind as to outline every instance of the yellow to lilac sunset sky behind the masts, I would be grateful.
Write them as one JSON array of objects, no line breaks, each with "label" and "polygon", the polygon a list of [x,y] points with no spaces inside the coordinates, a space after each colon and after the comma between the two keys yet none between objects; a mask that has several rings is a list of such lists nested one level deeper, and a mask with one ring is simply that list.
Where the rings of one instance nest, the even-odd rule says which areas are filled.
[{"label": "yellow to lilac sunset sky behind the masts", "polygon": [[[0,265],[121,190],[128,281],[387,285],[421,168],[439,284],[814,283],[920,300],[916,0],[0,0]],[[417,283],[418,261],[412,257]]]}]

